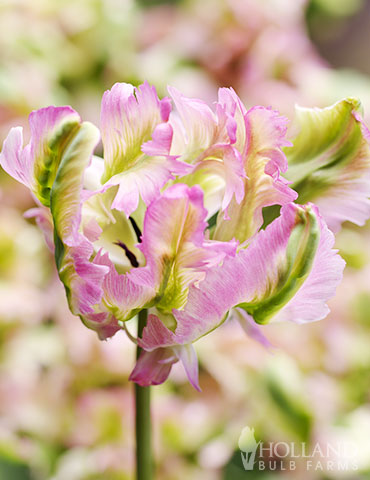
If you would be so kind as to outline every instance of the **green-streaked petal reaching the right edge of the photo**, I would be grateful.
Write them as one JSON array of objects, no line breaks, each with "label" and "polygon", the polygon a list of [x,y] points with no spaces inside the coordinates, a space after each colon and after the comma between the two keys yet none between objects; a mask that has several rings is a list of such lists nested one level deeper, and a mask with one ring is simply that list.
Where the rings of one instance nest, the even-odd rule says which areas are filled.
[{"label": "green-streaked petal reaching the right edge of the photo", "polygon": [[370,132],[359,110],[351,98],[324,109],[296,107],[300,133],[286,151],[286,177],[299,201],[315,202],[333,231],[370,218]]}]

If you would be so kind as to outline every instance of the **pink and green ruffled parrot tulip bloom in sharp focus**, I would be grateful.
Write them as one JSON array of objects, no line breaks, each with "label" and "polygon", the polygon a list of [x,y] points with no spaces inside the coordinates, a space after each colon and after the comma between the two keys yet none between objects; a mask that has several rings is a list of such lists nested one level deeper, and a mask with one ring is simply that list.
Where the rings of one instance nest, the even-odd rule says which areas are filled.
[{"label": "pink and green ruffled parrot tulip bloom in sharp focus", "polygon": [[[299,111],[291,143],[287,119],[247,110],[232,89],[214,109],[169,93],[173,102],[146,83],[105,92],[103,158],[97,127],[48,107],[31,113],[25,147],[10,131],[0,162],[38,203],[28,216],[71,311],[106,339],[148,310],[131,380],[162,383],[180,361],[199,388],[193,344],[233,312],[262,342],[261,325],[327,315],[344,261],[325,220],[370,216],[369,134],[351,100]],[[268,224],[272,205],[281,212]]]}]

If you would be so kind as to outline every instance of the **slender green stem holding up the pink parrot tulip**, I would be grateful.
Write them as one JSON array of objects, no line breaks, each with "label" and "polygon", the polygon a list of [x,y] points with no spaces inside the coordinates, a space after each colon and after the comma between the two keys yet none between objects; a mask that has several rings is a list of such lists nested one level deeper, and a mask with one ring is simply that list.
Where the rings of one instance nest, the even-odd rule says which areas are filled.
[{"label": "slender green stem holding up the pink parrot tulip", "polygon": [[[148,312],[139,313],[138,338],[142,336]],[[136,350],[139,358],[141,348]],[[152,480],[151,421],[150,421],[150,387],[141,387],[135,383],[135,431],[136,431],[136,479]]]}]

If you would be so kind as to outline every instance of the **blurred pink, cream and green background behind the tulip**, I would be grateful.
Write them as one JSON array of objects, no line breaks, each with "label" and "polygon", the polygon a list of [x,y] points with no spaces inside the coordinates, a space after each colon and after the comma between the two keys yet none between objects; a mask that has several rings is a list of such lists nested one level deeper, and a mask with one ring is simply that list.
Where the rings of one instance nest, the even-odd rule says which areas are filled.
[{"label": "blurred pink, cream and green background behind the tulip", "polygon": [[[251,106],[361,98],[370,119],[370,2],[2,0],[0,137],[32,109],[71,104],[99,121],[117,81],[172,84]],[[0,172],[0,479],[133,478],[134,348],[99,342],[67,309],[33,202]],[[343,284],[319,323],[264,327],[267,351],[228,323],[200,340],[200,394],[181,368],[153,389],[161,480],[370,478],[370,226],[337,239]],[[134,322],[131,322],[134,323]],[[134,328],[134,325],[130,325]],[[245,426],[265,442],[359,447],[359,471],[245,472]],[[299,470],[301,469],[301,470]]]}]

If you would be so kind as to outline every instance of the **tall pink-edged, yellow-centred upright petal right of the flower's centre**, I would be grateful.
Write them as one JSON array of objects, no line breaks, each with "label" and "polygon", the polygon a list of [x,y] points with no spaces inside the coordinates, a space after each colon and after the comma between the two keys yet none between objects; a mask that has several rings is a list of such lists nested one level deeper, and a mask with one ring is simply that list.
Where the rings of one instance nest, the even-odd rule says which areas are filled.
[{"label": "tall pink-edged, yellow-centred upright petal right of the flower's centre", "polygon": [[[238,104],[234,108],[237,107]],[[242,110],[238,107],[236,111],[239,111],[240,124]],[[239,204],[236,199],[231,201],[227,218],[219,215],[213,235],[217,240],[236,238],[240,243],[251,239],[262,226],[263,207],[285,205],[297,198],[296,192],[280,176],[280,172],[287,169],[286,157],[282,152],[283,146],[290,145],[285,138],[287,120],[278,112],[264,107],[251,108],[243,118],[245,133],[242,133],[240,125],[237,136],[242,136],[245,141],[244,147],[239,146],[243,150],[246,174],[244,198]]]}]

